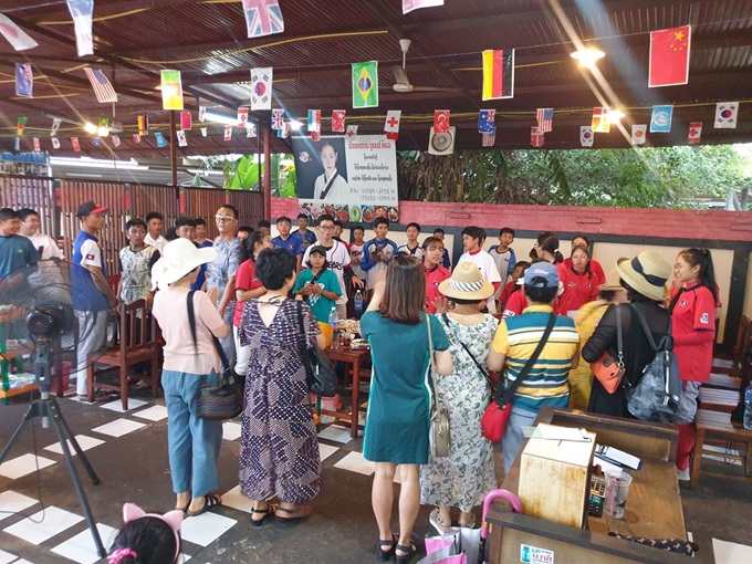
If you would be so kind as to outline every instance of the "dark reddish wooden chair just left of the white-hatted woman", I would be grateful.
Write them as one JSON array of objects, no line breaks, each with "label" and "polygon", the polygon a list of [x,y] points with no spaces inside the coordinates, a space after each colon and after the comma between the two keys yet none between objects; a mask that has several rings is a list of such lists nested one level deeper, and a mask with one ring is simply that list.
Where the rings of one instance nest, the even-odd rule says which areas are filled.
[{"label": "dark reddish wooden chair just left of the white-hatted woman", "polygon": [[[98,358],[92,355],[92,361],[95,362],[92,362],[87,368],[88,400],[94,400],[95,387],[112,389],[121,395],[123,409],[128,409],[128,368],[138,363],[146,361],[152,363],[152,393],[154,397],[157,397],[159,386],[159,345],[156,341],[158,326],[154,316],[147,314],[144,300],[137,300],[127,305],[121,304],[117,312],[119,342]],[[119,369],[119,386],[96,382],[97,375],[109,372],[114,367]]]}]

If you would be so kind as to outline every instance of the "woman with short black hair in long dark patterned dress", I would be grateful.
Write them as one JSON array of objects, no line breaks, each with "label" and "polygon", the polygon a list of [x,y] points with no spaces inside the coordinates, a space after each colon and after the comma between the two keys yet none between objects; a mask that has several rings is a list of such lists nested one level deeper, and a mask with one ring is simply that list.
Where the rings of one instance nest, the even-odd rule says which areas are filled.
[{"label": "woman with short black hair in long dark patterned dress", "polygon": [[[240,489],[253,502],[251,524],[260,526],[272,514],[307,516],[307,503],[321,490],[318,439],[301,352],[303,342],[309,348],[323,348],[324,337],[311,309],[288,297],[295,282],[290,252],[264,249],[255,274],[267,293],[247,302],[240,323],[246,341],[241,344],[249,348]],[[279,504],[268,502],[274,495]]]}]

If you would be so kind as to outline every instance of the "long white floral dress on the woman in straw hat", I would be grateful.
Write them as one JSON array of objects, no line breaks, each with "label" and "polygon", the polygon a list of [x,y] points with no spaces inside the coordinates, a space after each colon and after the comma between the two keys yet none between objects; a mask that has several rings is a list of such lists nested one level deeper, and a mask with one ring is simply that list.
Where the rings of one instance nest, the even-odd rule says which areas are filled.
[{"label": "long white floral dress on the woman in straw hat", "polygon": [[451,456],[429,458],[420,468],[420,503],[456,506],[470,511],[480,505],[485,494],[495,489],[493,447],[480,434],[480,418],[491,399],[485,377],[460,343],[488,369],[485,361],[499,322],[485,315],[478,325],[468,327],[447,316],[439,316],[449,337],[455,370],[436,378],[439,397],[449,408]]}]

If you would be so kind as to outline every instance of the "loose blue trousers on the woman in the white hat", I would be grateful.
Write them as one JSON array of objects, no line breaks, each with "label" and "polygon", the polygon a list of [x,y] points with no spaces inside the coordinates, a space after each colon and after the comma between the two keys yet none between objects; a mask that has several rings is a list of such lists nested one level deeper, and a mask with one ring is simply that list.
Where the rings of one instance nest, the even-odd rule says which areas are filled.
[{"label": "loose blue trousers on the woman in the white hat", "polygon": [[222,446],[222,422],[196,417],[195,400],[201,384],[217,384],[215,370],[208,376],[163,370],[161,386],[167,404],[167,447],[173,491],[191,491],[202,498],[219,488],[217,459]]}]

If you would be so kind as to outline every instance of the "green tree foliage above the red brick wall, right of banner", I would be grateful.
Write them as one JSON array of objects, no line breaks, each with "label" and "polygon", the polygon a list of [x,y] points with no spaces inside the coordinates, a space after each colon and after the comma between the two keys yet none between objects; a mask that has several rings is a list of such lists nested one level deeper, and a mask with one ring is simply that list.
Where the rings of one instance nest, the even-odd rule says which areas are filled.
[{"label": "green tree foliage above the red brick wall, right of banner", "polygon": [[[745,168],[748,167],[748,168]],[[400,153],[404,200],[691,208],[748,186],[730,145],[597,150]]]}]

